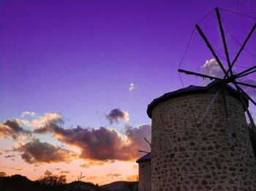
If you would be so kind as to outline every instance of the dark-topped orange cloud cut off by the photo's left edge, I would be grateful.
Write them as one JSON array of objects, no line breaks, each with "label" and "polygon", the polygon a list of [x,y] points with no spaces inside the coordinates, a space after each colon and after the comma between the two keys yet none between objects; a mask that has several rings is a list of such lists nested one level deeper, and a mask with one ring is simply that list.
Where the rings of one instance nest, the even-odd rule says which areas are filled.
[{"label": "dark-topped orange cloud cut off by the photo's left edge", "polygon": [[18,120],[10,119],[0,123],[0,138],[24,139],[24,136],[31,136],[31,132],[20,127]]}]

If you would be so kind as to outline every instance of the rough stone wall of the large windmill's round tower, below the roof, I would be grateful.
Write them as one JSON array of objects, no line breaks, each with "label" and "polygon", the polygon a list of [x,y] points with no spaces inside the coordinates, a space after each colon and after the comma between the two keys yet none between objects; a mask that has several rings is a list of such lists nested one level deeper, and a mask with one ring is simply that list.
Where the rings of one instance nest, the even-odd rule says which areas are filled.
[{"label": "rough stone wall of the large windmill's round tower, below the roof", "polygon": [[152,191],[256,190],[256,161],[241,102],[226,95],[227,125],[219,95],[197,128],[213,96],[182,95],[154,106]]}]

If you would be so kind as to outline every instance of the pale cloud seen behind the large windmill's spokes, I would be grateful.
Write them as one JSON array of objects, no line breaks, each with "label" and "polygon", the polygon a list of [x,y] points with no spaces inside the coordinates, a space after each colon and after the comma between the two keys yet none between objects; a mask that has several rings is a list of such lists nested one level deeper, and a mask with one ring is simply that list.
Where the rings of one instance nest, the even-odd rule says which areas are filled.
[{"label": "pale cloud seen behind the large windmill's spokes", "polygon": [[209,75],[211,77],[219,77],[223,78],[224,73],[219,66],[219,63],[215,60],[215,58],[211,58],[209,61],[206,60],[206,63],[201,66],[200,71],[203,74]]}]

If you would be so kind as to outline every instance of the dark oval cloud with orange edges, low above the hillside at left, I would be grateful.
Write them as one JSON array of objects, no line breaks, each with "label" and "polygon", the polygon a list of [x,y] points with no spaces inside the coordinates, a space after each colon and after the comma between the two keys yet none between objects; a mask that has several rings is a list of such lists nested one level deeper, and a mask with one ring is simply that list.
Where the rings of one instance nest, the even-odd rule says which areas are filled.
[{"label": "dark oval cloud with orange edges, low above the hillside at left", "polygon": [[20,144],[14,147],[13,151],[21,152],[21,157],[26,163],[70,163],[77,157],[75,152],[40,142],[38,139]]}]

